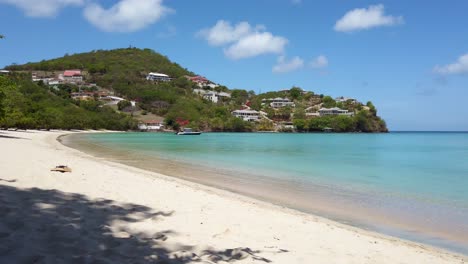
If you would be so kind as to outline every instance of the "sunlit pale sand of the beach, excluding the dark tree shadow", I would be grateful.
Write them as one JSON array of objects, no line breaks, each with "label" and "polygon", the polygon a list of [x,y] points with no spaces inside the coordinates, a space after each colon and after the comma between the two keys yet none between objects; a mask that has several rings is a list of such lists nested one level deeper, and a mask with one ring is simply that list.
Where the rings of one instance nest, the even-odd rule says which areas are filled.
[{"label": "sunlit pale sand of the beach, excluding the dark tree shadow", "polygon": [[[84,195],[93,201],[108,199],[118,204],[132,203],[162,211],[168,215],[163,220],[120,220],[109,221],[107,225],[112,230],[112,237],[139,237],[175,230],[164,234],[167,240],[157,241],[160,248],[167,249],[168,259],[185,256],[215,263],[229,260],[252,263],[259,259],[273,263],[467,261],[467,256],[431,246],[365,231],[187,180],[97,159],[57,141],[57,137],[69,132],[0,133],[11,137],[0,138],[2,148],[5,148],[1,163],[5,176],[0,177],[0,186],[21,190],[55,189]],[[30,162],[24,164],[24,160]],[[72,167],[72,173],[57,174],[49,171],[59,163],[67,163]],[[148,242],[151,243],[154,241]],[[180,245],[189,245],[190,250],[181,250],[189,247]],[[114,248],[110,249],[112,251]],[[115,250],[117,252],[117,248]],[[232,258],[233,255],[238,257]],[[218,257],[217,261],[213,261],[214,256]],[[0,255],[0,260],[2,257],[5,256]]]}]

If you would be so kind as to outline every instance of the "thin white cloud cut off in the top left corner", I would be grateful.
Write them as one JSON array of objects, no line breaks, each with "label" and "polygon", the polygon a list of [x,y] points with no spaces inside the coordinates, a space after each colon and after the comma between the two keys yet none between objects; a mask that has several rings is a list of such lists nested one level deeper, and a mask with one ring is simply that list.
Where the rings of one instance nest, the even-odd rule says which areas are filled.
[{"label": "thin white cloud cut off in the top left corner", "polygon": [[81,6],[85,0],[0,0],[24,11],[29,17],[54,17],[67,6]]}]

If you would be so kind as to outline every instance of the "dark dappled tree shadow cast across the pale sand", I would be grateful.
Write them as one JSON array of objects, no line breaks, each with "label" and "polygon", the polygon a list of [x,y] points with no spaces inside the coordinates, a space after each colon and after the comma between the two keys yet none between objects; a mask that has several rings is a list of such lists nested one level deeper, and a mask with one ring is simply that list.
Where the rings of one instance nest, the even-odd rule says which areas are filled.
[{"label": "dark dappled tree shadow cast across the pale sand", "polygon": [[175,230],[149,234],[130,227],[141,221],[157,225],[173,213],[57,190],[0,185],[0,263],[271,262],[250,248],[195,250],[171,243]]}]

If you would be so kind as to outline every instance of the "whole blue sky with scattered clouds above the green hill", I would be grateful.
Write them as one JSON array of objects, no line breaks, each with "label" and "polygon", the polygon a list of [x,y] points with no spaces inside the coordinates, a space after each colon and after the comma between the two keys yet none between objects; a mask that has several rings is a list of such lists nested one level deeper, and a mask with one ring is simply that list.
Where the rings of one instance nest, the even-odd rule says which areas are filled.
[{"label": "whole blue sky with scattered clouds above the green hill", "polygon": [[128,46],[229,88],[374,102],[391,130],[468,131],[468,2],[0,0],[0,68]]}]

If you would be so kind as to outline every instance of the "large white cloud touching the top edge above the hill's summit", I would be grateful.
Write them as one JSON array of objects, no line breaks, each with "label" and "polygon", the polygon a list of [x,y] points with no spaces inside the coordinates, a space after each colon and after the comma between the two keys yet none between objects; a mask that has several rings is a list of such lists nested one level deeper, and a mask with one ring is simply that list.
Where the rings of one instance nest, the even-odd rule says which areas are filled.
[{"label": "large white cloud touching the top edge above the hill's summit", "polygon": [[90,4],[85,8],[84,16],[103,31],[133,32],[172,12],[162,0],[121,0],[109,9]]}]

